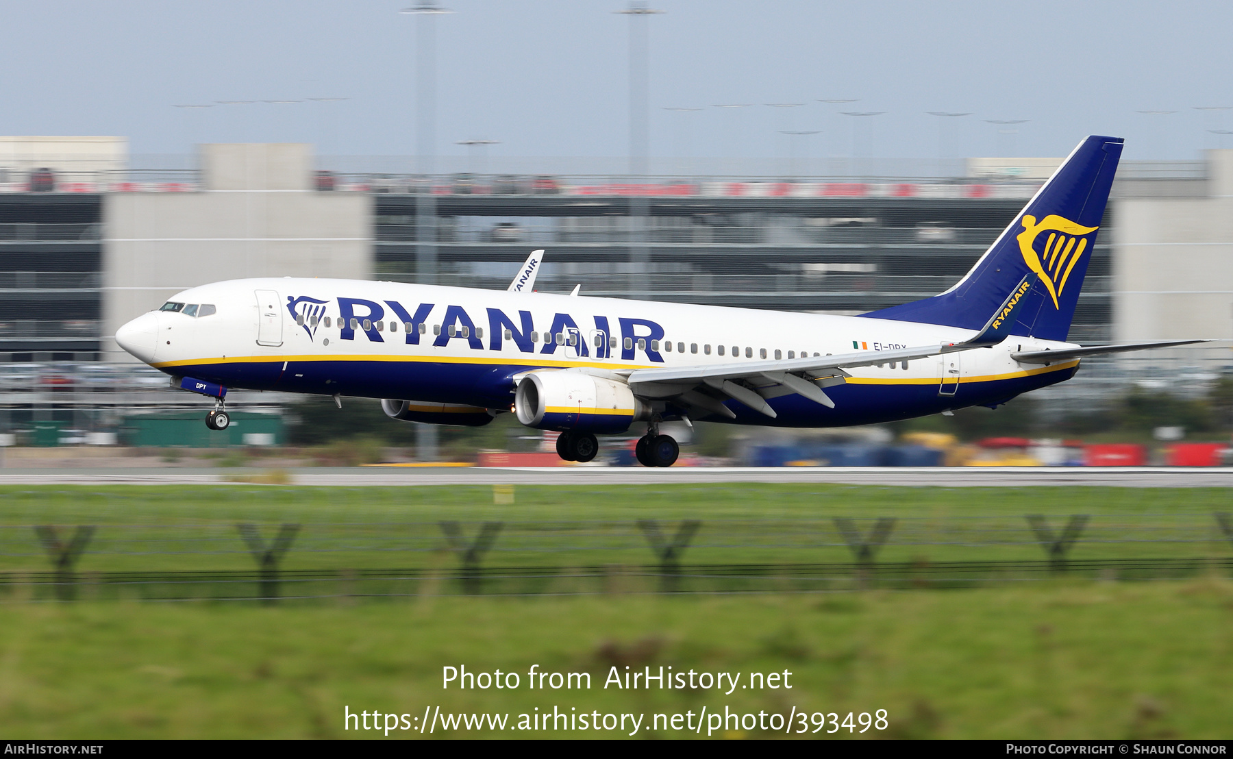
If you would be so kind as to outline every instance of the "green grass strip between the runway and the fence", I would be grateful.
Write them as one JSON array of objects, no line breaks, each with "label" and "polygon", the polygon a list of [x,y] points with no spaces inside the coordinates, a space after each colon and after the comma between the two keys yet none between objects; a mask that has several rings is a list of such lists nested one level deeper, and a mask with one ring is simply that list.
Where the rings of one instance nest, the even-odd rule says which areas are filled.
[{"label": "green grass strip between the runway and the fence", "polygon": [[851,552],[834,518],[868,532],[898,520],[880,561],[1041,559],[1027,514],[1053,530],[1091,516],[1074,558],[1226,557],[1213,511],[1229,510],[1215,488],[891,488],[822,484],[523,487],[514,504],[492,487],[0,488],[0,570],[49,568],[32,525],[96,525],[83,572],[252,569],[236,524],[302,525],[287,569],[438,567],[439,522],[464,535],[502,521],[488,566],[644,564],[653,561],[636,520],[668,534],[683,519],[703,525],[686,563],[845,562]]}]

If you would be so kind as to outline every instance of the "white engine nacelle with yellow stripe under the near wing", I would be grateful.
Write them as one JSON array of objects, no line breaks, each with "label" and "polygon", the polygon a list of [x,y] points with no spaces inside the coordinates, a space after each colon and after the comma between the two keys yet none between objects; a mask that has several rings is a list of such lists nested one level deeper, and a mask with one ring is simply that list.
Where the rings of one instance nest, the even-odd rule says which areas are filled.
[{"label": "white engine nacelle with yellow stripe under the near wing", "polygon": [[540,430],[624,432],[651,409],[629,384],[575,371],[531,372],[514,393],[518,421]]}]

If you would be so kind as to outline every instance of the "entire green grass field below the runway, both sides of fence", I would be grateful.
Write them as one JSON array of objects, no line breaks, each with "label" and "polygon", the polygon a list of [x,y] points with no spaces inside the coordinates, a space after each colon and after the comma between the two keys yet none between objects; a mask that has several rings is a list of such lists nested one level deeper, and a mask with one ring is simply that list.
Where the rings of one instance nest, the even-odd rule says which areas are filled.
[{"label": "entire green grass field below the runway, both sides of fence", "polygon": [[[508,566],[647,563],[646,541],[631,526],[637,519],[666,530],[702,520],[684,562],[850,559],[834,516],[856,518],[863,529],[877,516],[900,520],[879,559],[1042,558],[1025,514],[1057,527],[1068,515],[1090,515],[1075,557],[1228,556],[1212,516],[1227,504],[1223,490],[1116,488],[519,487],[513,504],[494,503],[493,489],[480,487],[20,488],[0,492],[0,568],[49,567],[32,525],[90,524],[97,532],[83,572],[252,569],[238,521],[266,530],[302,524],[287,567],[453,561],[440,520],[462,522],[469,535],[483,521],[504,521],[487,561]],[[344,707],[490,711],[517,721],[554,706],[647,720],[726,706],[840,718],[885,708],[888,729],[864,737],[1218,738],[1228,734],[1233,707],[1231,622],[1233,582],[1217,572],[959,590],[425,594],[272,607],[55,603],[10,589],[0,595],[0,729],[6,738],[349,737],[356,732],[343,731]],[[443,690],[441,668],[460,664],[524,673],[524,683],[533,664],[588,672],[593,686]],[[794,688],[605,690],[612,665],[790,670]],[[644,726],[639,734],[650,733]],[[723,732],[741,734],[763,732]]]}]

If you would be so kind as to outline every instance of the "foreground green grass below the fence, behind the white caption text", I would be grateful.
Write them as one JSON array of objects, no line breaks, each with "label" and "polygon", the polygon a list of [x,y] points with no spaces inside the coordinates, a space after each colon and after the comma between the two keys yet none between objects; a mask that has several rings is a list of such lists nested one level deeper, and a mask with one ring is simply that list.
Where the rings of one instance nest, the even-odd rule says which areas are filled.
[{"label": "foreground green grass below the fence, behind the white caption text", "polygon": [[[0,724],[6,738],[356,737],[343,731],[344,706],[515,720],[554,705],[647,715],[727,706],[885,708],[880,734],[893,737],[1222,738],[1231,623],[1233,584],[1216,578],[821,596],[6,604]],[[614,663],[787,669],[794,688],[604,690]],[[591,672],[593,688],[530,691],[524,676],[518,690],[443,690],[441,667],[459,664]]]}]

